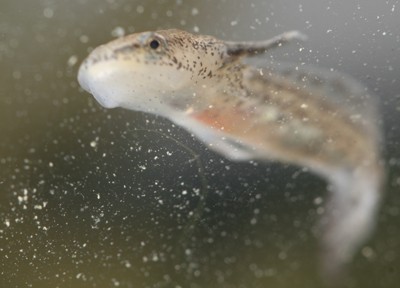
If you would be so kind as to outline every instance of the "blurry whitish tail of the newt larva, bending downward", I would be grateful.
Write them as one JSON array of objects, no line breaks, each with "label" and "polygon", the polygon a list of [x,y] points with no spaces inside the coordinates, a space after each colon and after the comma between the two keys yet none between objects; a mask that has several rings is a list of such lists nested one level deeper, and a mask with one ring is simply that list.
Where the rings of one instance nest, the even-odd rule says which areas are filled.
[{"label": "blurry whitish tail of the newt larva, bending downward", "polygon": [[331,179],[331,198],[321,225],[325,279],[340,279],[343,268],[370,235],[381,200],[383,166],[342,170]]}]

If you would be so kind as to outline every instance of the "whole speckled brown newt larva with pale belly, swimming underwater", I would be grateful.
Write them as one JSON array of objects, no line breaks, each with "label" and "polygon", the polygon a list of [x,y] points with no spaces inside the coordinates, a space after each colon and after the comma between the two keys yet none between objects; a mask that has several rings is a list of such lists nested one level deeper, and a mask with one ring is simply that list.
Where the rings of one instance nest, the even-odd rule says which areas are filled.
[{"label": "whole speckled brown newt larva with pale belly, swimming underwater", "polygon": [[79,82],[103,106],[164,116],[230,159],[272,159],[324,176],[333,189],[323,220],[325,272],[335,275],[374,222],[379,129],[371,97],[348,77],[242,61],[300,36],[226,42],[181,30],[133,34],[96,48]]}]

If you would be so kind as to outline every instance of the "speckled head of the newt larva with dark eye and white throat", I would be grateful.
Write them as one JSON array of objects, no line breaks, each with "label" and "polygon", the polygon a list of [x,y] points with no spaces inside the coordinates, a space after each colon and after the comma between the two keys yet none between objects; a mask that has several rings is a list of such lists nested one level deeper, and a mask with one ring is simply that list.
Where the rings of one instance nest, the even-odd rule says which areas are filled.
[{"label": "speckled head of the newt larva with dark eye and white throat", "polygon": [[222,53],[222,42],[209,36],[137,33],[94,49],[79,68],[78,81],[104,107],[162,114],[195,101],[193,86],[213,76]]}]

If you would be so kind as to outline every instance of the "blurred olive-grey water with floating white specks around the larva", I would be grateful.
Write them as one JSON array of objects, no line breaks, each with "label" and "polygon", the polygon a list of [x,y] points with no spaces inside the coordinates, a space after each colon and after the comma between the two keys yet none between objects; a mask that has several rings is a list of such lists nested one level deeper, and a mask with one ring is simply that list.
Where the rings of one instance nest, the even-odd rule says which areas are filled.
[{"label": "blurred olive-grey water with floating white specks around the larva", "polygon": [[400,281],[400,3],[2,0],[1,287],[320,287],[326,183],[279,163],[234,163],[165,119],[105,110],[80,62],[123,34],[227,40],[309,36],[268,60],[346,72],[373,91],[388,169],[378,226],[346,287]]}]

